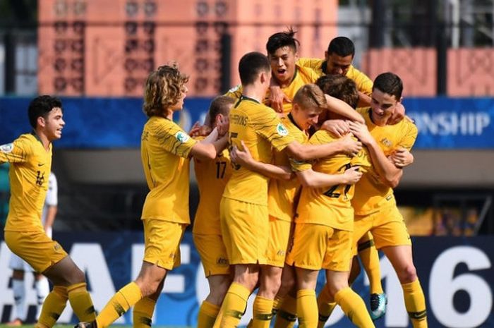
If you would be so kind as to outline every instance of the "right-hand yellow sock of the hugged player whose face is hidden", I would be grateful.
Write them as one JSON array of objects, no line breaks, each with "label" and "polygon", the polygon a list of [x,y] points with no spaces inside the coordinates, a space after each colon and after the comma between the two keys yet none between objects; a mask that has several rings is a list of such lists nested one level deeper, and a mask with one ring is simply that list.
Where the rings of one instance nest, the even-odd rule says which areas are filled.
[{"label": "right-hand yellow sock of the hugged player whose face is hidden", "polygon": [[335,295],[335,301],[357,327],[374,328],[372,319],[370,319],[370,315],[367,312],[366,304],[350,287],[338,291]]}]

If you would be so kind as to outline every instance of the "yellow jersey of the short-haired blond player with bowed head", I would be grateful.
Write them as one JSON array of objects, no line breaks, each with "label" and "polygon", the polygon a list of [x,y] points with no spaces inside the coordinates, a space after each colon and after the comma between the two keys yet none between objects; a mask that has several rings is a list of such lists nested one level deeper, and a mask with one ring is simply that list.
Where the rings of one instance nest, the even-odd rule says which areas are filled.
[{"label": "yellow jersey of the short-haired blond player with bowed head", "polygon": [[[306,133],[296,126],[295,121],[289,114],[282,117],[282,123],[287,127],[287,130],[294,136],[295,140],[300,143],[306,143],[308,136]],[[274,151],[273,164],[278,166],[290,166],[293,160],[289,160],[286,152]],[[292,221],[296,206],[295,198],[300,191],[299,179],[294,176],[289,181],[279,179],[270,179],[270,184],[267,189],[267,209],[270,216],[283,221]]]}]

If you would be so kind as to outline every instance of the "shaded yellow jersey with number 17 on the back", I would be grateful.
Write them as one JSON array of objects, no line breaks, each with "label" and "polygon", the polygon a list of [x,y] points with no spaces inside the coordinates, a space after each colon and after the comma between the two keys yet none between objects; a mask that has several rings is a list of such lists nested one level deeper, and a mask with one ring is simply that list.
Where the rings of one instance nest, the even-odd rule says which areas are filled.
[{"label": "shaded yellow jersey with number 17 on the back", "polygon": [[223,150],[214,161],[194,160],[195,178],[199,188],[199,205],[195,212],[192,232],[200,235],[221,235],[219,202],[224,186],[231,176],[228,150]]}]

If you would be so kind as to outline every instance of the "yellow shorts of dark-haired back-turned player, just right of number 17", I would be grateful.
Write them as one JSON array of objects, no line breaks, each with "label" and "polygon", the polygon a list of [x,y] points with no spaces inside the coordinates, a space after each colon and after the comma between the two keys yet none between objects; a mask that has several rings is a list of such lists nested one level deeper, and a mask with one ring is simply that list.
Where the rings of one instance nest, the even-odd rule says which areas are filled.
[{"label": "yellow shorts of dark-haired back-turned player, just right of number 17", "polygon": [[222,198],[219,218],[230,265],[267,263],[267,206]]}]

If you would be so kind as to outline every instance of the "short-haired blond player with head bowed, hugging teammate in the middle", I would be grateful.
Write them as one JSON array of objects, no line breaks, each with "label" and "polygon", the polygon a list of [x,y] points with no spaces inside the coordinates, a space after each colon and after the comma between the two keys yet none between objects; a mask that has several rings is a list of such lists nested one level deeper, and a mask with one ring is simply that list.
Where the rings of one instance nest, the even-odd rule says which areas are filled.
[{"label": "short-haired blond player with head bowed, hugging teammate in the middle", "polygon": [[[337,111],[350,118],[361,119],[359,117],[360,115],[349,107],[349,105],[338,101],[338,99],[325,96],[319,87],[313,84],[303,85],[296,92],[293,103],[293,109],[291,109],[288,116],[283,116],[281,121],[287,127],[289,133],[294,135],[294,138],[301,143],[308,141],[308,129],[318,121],[318,115],[326,109]],[[337,151],[335,149],[335,154],[341,152],[356,154],[361,150],[359,142],[351,140],[348,137],[337,140],[334,144],[342,144],[342,150]],[[267,205],[270,217],[267,263],[270,265],[270,271],[273,274],[282,274],[282,286],[279,288],[272,311],[273,314],[276,314],[280,305],[283,304],[283,308],[277,316],[276,327],[277,325],[294,322],[296,319],[296,291],[294,291],[294,295],[290,293],[289,297],[285,298],[294,286],[293,268],[285,265],[285,254],[287,253],[294,209],[296,208],[301,183],[303,186],[313,188],[330,188],[340,183],[354,184],[359,180],[361,173],[356,171],[357,168],[351,168],[345,171],[344,174],[336,175],[321,174],[312,169],[307,169],[297,171],[296,176],[294,176],[291,174],[287,154],[275,151],[273,154],[273,164],[285,170],[281,171],[281,174],[275,174],[275,169],[270,169],[271,164],[256,162],[248,152],[248,148],[243,148],[244,150],[240,151],[234,147],[234,150],[231,151],[232,161],[236,162],[236,164],[241,164],[251,171],[271,177],[268,187]],[[347,150],[343,151],[345,148]],[[288,176],[286,172],[289,173]]]}]

